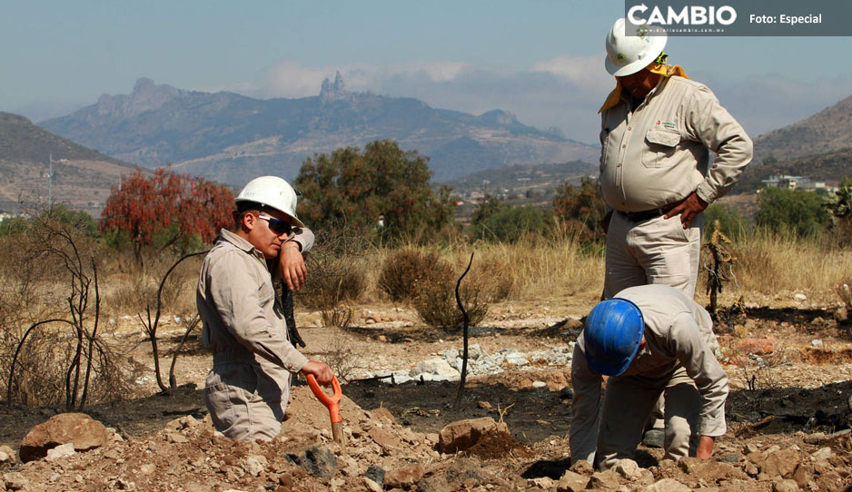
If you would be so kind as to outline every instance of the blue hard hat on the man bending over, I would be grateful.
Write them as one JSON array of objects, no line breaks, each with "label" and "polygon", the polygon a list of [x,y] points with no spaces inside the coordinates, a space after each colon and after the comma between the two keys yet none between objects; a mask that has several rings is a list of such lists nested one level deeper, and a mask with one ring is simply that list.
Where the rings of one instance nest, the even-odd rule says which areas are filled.
[{"label": "blue hard hat on the man bending over", "polygon": [[586,317],[583,338],[586,362],[604,376],[619,376],[639,351],[645,334],[642,311],[633,302],[611,298],[595,306]]}]

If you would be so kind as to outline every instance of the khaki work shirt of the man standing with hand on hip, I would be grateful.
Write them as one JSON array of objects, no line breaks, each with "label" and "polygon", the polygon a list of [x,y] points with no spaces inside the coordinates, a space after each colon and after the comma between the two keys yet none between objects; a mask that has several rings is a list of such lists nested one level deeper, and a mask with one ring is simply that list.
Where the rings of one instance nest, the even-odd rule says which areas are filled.
[{"label": "khaki work shirt of the man standing with hand on hip", "polygon": [[[635,111],[622,91],[600,121],[600,188],[621,212],[652,210],[691,192],[711,203],[751,161],[742,126],[707,86],[683,77],[663,77]],[[718,154],[709,172],[708,150]]]}]

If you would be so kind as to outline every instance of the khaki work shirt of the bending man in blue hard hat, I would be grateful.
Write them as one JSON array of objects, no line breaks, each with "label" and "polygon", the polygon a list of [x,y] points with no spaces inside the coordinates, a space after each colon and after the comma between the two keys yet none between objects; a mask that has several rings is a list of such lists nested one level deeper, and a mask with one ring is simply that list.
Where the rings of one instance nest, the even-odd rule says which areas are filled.
[{"label": "khaki work shirt of the bending man in blue hard hat", "polygon": [[[698,435],[724,435],[727,431],[728,374],[713,355],[716,339],[708,312],[680,290],[662,284],[630,287],[615,297],[631,300],[639,307],[645,320],[646,342],[629,368],[615,378],[639,379],[643,385],[664,389],[669,379],[686,369],[701,395]],[[580,334],[571,360],[574,386],[570,426],[572,458],[588,459],[595,451],[602,381],[586,362],[584,339]],[[629,401],[621,404],[630,406]]]}]

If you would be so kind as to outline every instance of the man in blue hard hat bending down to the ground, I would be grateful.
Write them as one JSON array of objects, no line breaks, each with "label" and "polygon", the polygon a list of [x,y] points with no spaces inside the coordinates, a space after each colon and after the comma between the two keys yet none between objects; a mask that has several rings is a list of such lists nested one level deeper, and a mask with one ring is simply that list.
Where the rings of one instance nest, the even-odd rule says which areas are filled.
[{"label": "man in blue hard hat bending down to the ground", "polygon": [[[666,458],[710,458],[726,431],[728,398],[711,329],[706,310],[666,285],[630,287],[595,306],[571,361],[572,461],[597,461],[606,470],[633,458],[663,393]],[[609,379],[601,413],[603,376]]]}]

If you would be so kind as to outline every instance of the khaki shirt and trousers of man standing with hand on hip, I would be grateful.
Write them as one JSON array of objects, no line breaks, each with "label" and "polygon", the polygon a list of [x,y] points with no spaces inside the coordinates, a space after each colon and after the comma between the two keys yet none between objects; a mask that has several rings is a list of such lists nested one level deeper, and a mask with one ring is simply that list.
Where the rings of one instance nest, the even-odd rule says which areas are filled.
[{"label": "khaki shirt and trousers of man standing with hand on hip", "polygon": [[[634,285],[663,283],[695,293],[704,215],[684,230],[679,216],[630,221],[697,192],[711,203],[751,161],[745,130],[707,86],[663,77],[635,111],[630,95],[601,114],[600,188],[613,209],[607,233],[604,296]],[[708,150],[718,156],[709,168]]]}]

